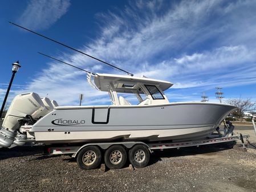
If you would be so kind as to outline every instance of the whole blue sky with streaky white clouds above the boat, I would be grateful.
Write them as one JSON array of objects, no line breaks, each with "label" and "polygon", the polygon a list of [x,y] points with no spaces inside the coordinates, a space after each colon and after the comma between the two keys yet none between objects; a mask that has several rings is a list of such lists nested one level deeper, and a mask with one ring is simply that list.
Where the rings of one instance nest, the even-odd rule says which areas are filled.
[{"label": "whole blue sky with streaky white clouds above the boat", "polygon": [[[210,102],[222,87],[224,102],[256,101],[256,2],[251,1],[0,1],[0,103],[19,60],[7,102],[35,92],[59,105],[110,104],[92,88],[86,73],[125,75],[78,52],[21,28],[30,28],[111,63],[135,76],[172,82],[170,102]],[[129,97],[128,97],[129,99]]]}]

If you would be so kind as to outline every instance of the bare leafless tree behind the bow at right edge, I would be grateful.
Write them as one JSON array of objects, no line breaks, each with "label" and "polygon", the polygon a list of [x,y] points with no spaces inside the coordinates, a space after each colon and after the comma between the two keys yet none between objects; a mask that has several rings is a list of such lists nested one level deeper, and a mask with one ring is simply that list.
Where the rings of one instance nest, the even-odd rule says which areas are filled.
[{"label": "bare leafless tree behind the bow at right edge", "polygon": [[240,120],[246,111],[254,111],[256,109],[256,102],[251,101],[251,99],[242,100],[241,97],[238,99],[229,99],[226,103],[235,105],[237,110],[232,114],[237,116]]}]

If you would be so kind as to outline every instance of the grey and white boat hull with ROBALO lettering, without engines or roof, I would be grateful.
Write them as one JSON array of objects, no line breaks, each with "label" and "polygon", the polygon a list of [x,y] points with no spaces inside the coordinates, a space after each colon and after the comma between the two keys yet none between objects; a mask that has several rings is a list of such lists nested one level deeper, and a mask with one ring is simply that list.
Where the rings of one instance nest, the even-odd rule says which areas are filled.
[{"label": "grey and white boat hull with ROBALO lettering, without engines or roof", "polygon": [[209,136],[234,109],[216,103],[59,107],[32,125],[30,132],[46,144],[193,140]]}]

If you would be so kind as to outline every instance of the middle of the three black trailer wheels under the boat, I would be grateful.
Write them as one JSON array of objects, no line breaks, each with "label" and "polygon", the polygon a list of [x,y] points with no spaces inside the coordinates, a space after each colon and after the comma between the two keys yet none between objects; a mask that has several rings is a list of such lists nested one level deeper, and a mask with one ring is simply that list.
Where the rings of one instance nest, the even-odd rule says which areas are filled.
[{"label": "middle of the three black trailer wheels under the boat", "polygon": [[113,145],[105,151],[104,161],[109,169],[123,168],[127,154],[123,146]]}]

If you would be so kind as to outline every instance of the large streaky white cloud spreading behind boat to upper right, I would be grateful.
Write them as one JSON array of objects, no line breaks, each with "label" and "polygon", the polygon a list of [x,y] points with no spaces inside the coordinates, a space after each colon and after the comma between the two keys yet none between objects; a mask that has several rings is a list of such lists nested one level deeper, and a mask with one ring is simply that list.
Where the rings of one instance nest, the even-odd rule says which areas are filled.
[{"label": "large streaky white cloud spreading behind boat to upper right", "polygon": [[[59,12],[66,12],[69,3],[60,4],[66,8]],[[256,83],[255,10],[253,1],[131,2],[120,12],[97,14],[98,37],[81,49],[138,76],[172,81],[176,95],[194,100],[189,88]],[[121,73],[80,54],[56,57],[92,72]],[[49,93],[60,104],[76,104],[79,93],[84,93],[84,103],[107,103],[107,95],[92,89],[84,73],[49,66],[27,91]]]}]

